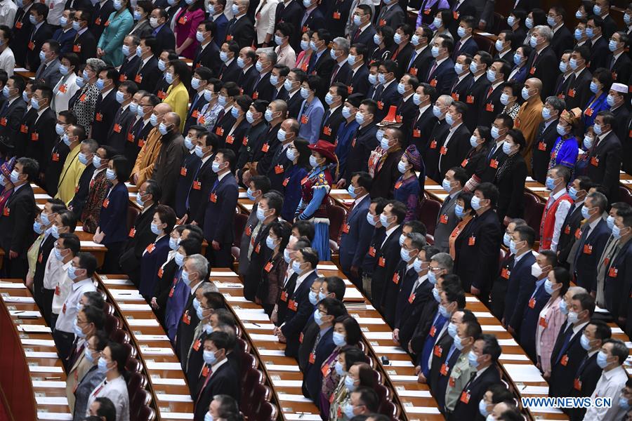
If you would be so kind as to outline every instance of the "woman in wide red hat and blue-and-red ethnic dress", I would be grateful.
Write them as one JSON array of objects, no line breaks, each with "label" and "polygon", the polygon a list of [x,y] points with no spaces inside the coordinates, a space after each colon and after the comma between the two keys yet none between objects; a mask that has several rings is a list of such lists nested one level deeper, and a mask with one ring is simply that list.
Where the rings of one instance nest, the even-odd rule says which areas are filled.
[{"label": "woman in wide red hat and blue-and-red ethnic dress", "polygon": [[327,196],[333,185],[329,164],[338,163],[332,143],[319,140],[315,145],[310,145],[312,155],[310,165],[312,171],[301,180],[301,202],[298,203],[295,220],[308,220],[314,223],[315,236],[312,248],[318,250],[321,261],[331,258],[329,249],[329,216],[327,215]]}]

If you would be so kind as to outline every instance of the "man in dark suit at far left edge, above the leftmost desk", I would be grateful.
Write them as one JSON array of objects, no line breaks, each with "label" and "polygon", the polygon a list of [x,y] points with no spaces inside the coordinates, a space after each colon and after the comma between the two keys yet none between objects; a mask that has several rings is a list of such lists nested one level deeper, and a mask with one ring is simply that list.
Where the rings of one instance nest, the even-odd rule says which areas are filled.
[{"label": "man in dark suit at far left edge, above the leftmost desk", "polygon": [[37,180],[37,161],[20,158],[15,161],[11,180],[13,193],[8,197],[0,216],[0,247],[4,250],[3,272],[8,278],[24,279],[27,274],[28,239],[32,236],[35,218],[35,196],[30,183]]}]

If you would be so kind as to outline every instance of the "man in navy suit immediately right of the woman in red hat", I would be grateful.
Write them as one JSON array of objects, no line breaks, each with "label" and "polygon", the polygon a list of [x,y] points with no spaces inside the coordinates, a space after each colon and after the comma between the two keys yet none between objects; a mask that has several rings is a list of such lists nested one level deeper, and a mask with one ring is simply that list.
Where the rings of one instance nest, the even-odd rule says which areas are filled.
[{"label": "man in navy suit immediately right of the woman in red hat", "polygon": [[371,197],[371,183],[373,179],[369,173],[359,172],[353,173],[348,187],[349,194],[355,202],[350,208],[343,226],[340,236],[340,266],[345,275],[360,286],[360,266],[364,255],[369,249],[371,234],[373,234],[372,226],[367,221],[367,213],[369,213],[369,204]]}]

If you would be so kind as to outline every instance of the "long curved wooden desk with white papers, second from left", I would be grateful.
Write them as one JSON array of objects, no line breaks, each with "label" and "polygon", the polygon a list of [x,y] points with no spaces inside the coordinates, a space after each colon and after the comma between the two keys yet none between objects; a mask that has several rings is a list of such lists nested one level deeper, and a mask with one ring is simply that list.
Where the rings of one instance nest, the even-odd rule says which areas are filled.
[{"label": "long curved wooden desk with white papers, second from left", "polygon": [[125,276],[95,274],[95,278],[138,351],[158,419],[192,420],[193,401],[185,375],[152,308]]}]

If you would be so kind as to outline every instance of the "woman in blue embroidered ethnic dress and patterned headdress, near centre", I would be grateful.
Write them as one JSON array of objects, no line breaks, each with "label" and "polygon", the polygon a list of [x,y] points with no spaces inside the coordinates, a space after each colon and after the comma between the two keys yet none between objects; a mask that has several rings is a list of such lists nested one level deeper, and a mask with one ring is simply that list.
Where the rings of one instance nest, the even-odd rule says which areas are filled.
[{"label": "woman in blue embroidered ethnic dress and patterned headdress, near centre", "polygon": [[419,185],[416,171],[421,171],[421,166],[423,166],[423,161],[421,161],[421,155],[415,145],[407,147],[406,151],[402,154],[400,162],[397,163],[397,170],[399,170],[402,175],[400,175],[400,178],[395,182],[393,196],[395,200],[406,205],[406,218],[404,222],[419,218],[423,190],[421,189],[421,185]]}]

